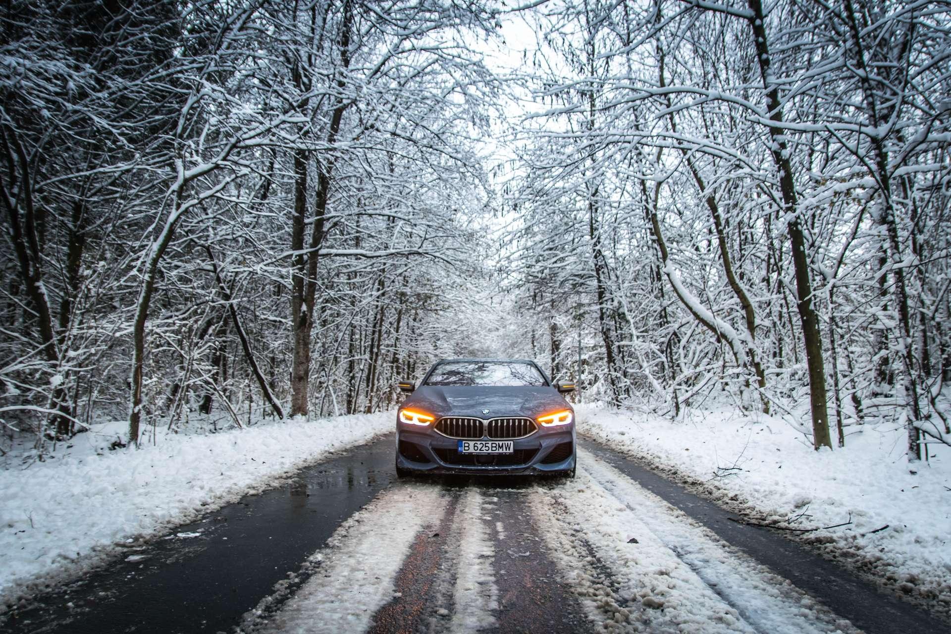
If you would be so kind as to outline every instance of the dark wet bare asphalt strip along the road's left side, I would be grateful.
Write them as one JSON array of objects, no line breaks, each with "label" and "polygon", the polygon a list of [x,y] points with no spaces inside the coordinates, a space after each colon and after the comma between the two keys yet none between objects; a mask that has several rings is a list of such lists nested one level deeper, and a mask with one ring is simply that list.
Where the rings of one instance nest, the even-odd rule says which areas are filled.
[{"label": "dark wet bare asphalt strip along the road's left side", "polygon": [[87,579],[10,610],[4,631],[231,631],[344,519],[396,480],[393,442],[387,436],[331,457],[281,488],[175,528],[170,539],[129,548]]}]

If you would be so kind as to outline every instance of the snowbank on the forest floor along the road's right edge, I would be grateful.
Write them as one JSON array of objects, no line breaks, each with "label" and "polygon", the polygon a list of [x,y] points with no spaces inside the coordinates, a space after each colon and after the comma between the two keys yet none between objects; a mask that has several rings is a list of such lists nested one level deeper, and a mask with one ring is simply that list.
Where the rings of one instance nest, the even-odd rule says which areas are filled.
[{"label": "snowbank on the forest floor along the road's right edge", "polygon": [[909,468],[904,430],[894,426],[853,427],[844,449],[813,451],[782,419],[735,409],[689,411],[680,422],[644,411],[578,413],[579,432],[674,471],[754,521],[819,528],[851,520],[799,538],[913,599],[951,607],[951,451]]}]

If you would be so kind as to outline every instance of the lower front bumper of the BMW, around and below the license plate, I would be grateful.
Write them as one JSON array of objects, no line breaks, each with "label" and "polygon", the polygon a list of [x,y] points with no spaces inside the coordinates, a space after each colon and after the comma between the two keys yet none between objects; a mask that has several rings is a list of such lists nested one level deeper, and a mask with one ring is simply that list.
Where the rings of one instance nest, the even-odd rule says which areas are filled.
[{"label": "lower front bumper of the BMW, around and below the license plate", "polygon": [[432,428],[409,429],[397,424],[397,467],[425,473],[512,475],[553,473],[574,469],[574,424],[565,430],[541,429],[513,440],[512,454],[474,456],[456,453],[458,439]]}]

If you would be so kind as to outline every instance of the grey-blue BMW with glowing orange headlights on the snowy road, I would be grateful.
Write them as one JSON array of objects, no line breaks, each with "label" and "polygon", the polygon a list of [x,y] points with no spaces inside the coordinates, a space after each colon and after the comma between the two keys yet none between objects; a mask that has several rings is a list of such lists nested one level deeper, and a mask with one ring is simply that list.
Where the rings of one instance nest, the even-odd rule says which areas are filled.
[{"label": "grey-blue BMW with glowing orange headlights on the snowy road", "polygon": [[414,473],[574,477],[574,410],[528,359],[437,361],[397,412],[398,476]]}]

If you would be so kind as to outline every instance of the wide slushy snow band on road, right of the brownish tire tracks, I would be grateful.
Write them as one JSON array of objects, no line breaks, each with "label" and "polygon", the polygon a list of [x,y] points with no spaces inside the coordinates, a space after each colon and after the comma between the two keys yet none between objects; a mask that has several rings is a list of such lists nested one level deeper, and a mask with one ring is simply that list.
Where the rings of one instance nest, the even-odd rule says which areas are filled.
[{"label": "wide slushy snow band on road, right of the brownish tire tracks", "polygon": [[555,563],[599,629],[848,629],[609,465],[588,453],[579,457],[575,480],[539,489],[531,504]]}]

